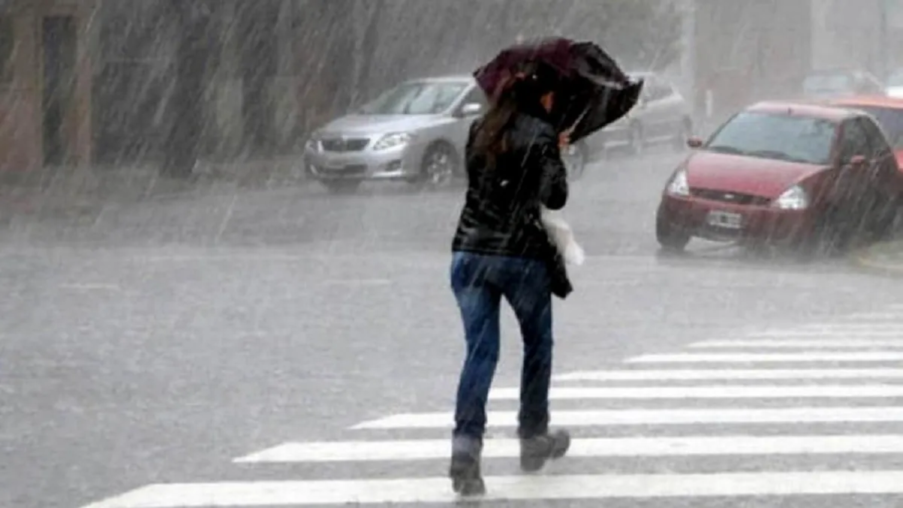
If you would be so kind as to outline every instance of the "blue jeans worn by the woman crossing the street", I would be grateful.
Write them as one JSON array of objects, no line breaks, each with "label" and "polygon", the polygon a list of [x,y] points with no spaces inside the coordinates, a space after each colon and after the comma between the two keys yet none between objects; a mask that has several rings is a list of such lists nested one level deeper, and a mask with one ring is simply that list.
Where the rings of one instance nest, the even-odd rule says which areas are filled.
[{"label": "blue jeans worn by the woman crossing the street", "polygon": [[467,340],[454,436],[482,439],[486,430],[486,401],[498,364],[499,308],[503,296],[514,309],[524,340],[517,434],[521,439],[545,434],[553,344],[552,292],[545,263],[456,252],[451,275]]}]

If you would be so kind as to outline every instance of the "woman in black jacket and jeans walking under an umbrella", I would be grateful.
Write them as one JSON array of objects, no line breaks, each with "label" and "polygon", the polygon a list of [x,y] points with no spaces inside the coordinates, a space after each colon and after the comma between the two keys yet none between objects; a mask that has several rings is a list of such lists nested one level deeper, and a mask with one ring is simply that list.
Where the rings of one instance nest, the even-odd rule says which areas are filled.
[{"label": "woman in black jacket and jeans walking under an umbrella", "polygon": [[[452,291],[461,309],[467,356],[461,369],[450,476],[459,494],[483,494],[480,474],[486,402],[498,364],[499,310],[514,309],[524,342],[517,435],[524,471],[563,457],[570,435],[550,432],[552,296],[561,273],[541,222],[542,207],[563,208],[566,143],[551,120],[558,73],[530,64],[493,97],[470,127],[468,189],[452,242]],[[566,279],[565,279],[566,284]],[[565,289],[566,293],[569,289]]]}]

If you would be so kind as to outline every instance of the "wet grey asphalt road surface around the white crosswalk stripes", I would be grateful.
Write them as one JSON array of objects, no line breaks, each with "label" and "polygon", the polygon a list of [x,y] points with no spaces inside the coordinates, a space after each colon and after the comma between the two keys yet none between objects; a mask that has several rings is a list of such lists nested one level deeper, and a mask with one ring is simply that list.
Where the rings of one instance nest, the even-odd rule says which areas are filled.
[{"label": "wet grey asphalt road surface around the white crosswalk stripes", "polygon": [[[843,260],[755,259],[703,243],[691,245],[692,253],[682,258],[659,256],[655,208],[678,161],[673,153],[654,152],[605,162],[573,186],[565,213],[589,259],[573,273],[577,291],[556,303],[556,373],[624,368],[625,359],[684,351],[694,341],[884,312],[903,302],[898,281],[858,272]],[[460,190],[415,194],[372,186],[355,196],[330,196],[311,186],[109,206],[78,224],[19,223],[0,232],[0,506],[80,507],[154,483],[442,476],[444,459],[231,461],[285,441],[446,437],[444,429],[360,434],[349,427],[396,413],[451,408],[462,340],[447,287],[448,245],[460,203]],[[496,385],[517,386],[517,328],[508,311],[503,329]],[[655,407],[894,402],[690,400]],[[515,408],[513,401],[493,404]],[[554,408],[649,405],[563,401]],[[796,430],[898,427],[814,423]],[[780,430],[740,425],[574,432],[588,437]],[[487,473],[514,474],[515,462],[489,461]],[[556,464],[554,474],[874,469],[898,462],[898,456],[583,457]],[[882,496],[829,499],[604,503],[903,503]]]}]

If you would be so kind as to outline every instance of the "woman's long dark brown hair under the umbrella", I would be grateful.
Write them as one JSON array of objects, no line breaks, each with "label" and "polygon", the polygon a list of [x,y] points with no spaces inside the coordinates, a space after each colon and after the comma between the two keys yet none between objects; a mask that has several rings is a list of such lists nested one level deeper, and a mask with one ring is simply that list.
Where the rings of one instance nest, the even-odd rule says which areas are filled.
[{"label": "woman's long dark brown hair under the umbrella", "polygon": [[498,87],[489,97],[489,111],[479,120],[473,140],[473,154],[485,158],[489,168],[495,166],[500,153],[507,152],[507,134],[518,113],[548,115],[541,99],[554,91],[557,75],[541,63],[528,63]]}]

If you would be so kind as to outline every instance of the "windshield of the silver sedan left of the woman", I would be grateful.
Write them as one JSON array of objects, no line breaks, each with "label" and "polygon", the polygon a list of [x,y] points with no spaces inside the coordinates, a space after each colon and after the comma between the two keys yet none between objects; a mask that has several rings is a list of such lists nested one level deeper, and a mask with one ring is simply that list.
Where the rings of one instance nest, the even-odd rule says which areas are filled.
[{"label": "windshield of the silver sedan left of the woman", "polygon": [[438,115],[468,88],[459,82],[410,82],[361,106],[361,115]]}]

